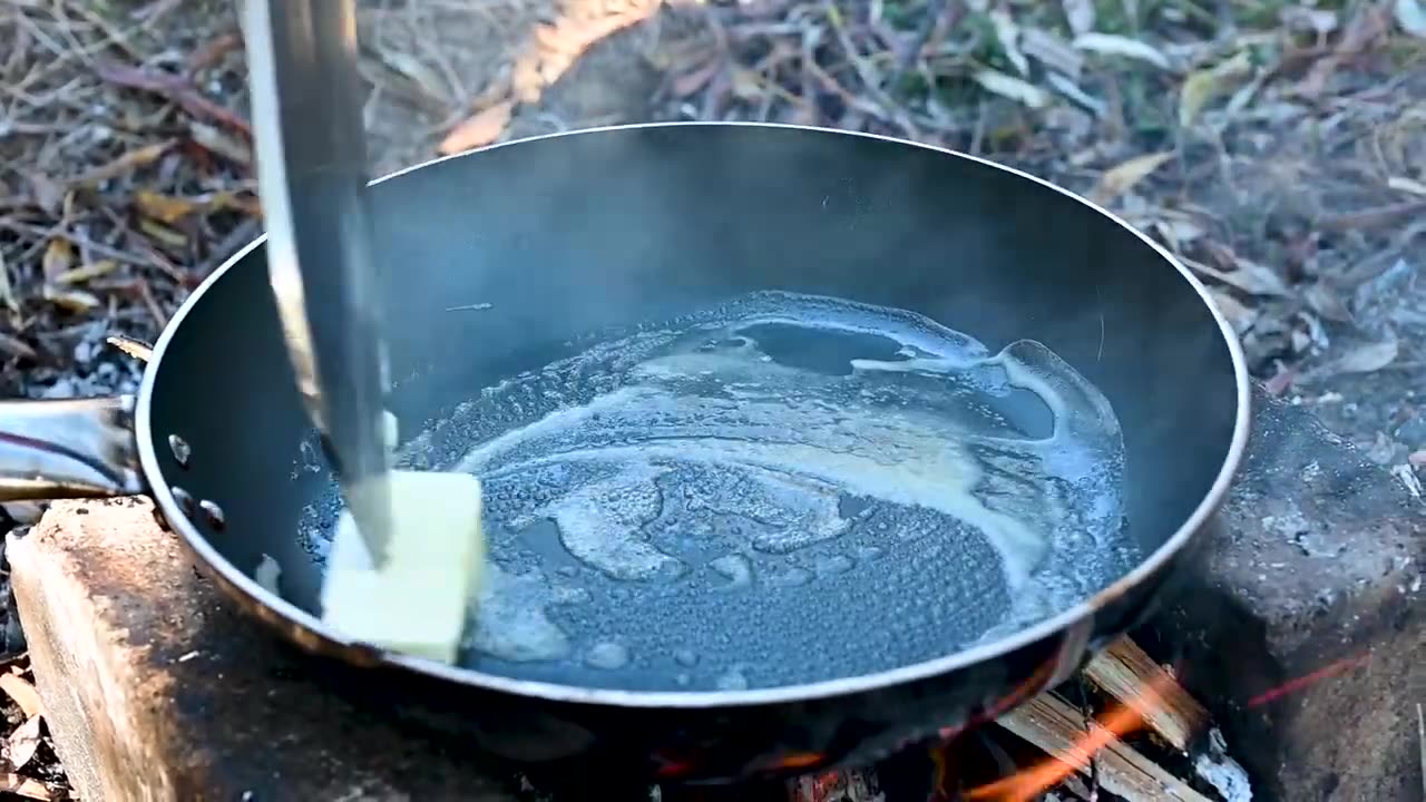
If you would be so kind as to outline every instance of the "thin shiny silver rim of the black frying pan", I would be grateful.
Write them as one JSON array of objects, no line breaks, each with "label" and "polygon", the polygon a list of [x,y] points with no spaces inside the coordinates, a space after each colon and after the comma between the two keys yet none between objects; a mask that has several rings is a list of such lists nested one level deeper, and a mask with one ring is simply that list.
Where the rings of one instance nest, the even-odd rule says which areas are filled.
[{"label": "thin shiny silver rim of the black frying pan", "polygon": [[[1072,631],[1077,625],[1082,625],[1087,621],[1092,621],[1092,616],[1097,615],[1102,608],[1105,608],[1115,599],[1121,598],[1132,588],[1138,587],[1151,575],[1156,574],[1161,568],[1164,568],[1165,564],[1168,564],[1179,551],[1184,549],[1184,547],[1189,542],[1189,539],[1194,538],[1196,532],[1199,532],[1206,527],[1209,519],[1222,507],[1222,502],[1226,498],[1228,491],[1232,485],[1233,477],[1236,475],[1238,468],[1242,464],[1243,455],[1246,452],[1249,421],[1252,417],[1252,410],[1251,410],[1252,392],[1248,378],[1248,364],[1242,350],[1242,344],[1239,342],[1236,333],[1233,333],[1232,325],[1224,315],[1222,310],[1219,310],[1218,304],[1214,303],[1214,298],[1209,294],[1208,287],[1196,275],[1194,275],[1182,263],[1174,258],[1174,255],[1168,250],[1161,247],[1158,243],[1151,240],[1138,228],[1129,225],[1125,220],[1111,213],[1109,210],[1089,201],[1085,197],[1071,193],[1064,187],[1060,187],[1057,184],[1031,176],[1030,173],[1025,173],[1022,170],[998,164],[978,156],[971,156],[967,153],[960,153],[944,147],[915,143],[881,134],[846,131],[838,128],[827,128],[816,126],[791,126],[781,123],[670,121],[670,123],[633,123],[622,126],[602,126],[595,128],[559,131],[552,134],[511,140],[506,143],[499,143],[482,148],[469,150],[465,153],[432,158],[421,164],[405,167],[402,170],[389,173],[386,176],[382,176],[371,181],[369,186],[382,184],[385,181],[399,178],[416,170],[434,167],[443,161],[466,158],[495,148],[503,148],[540,140],[552,140],[559,137],[600,136],[600,134],[613,134],[613,133],[632,131],[640,128],[674,128],[674,127],[776,128],[776,130],[787,130],[799,133],[863,137],[903,147],[923,148],[941,156],[971,161],[980,167],[1000,170],[1024,181],[1031,181],[1044,190],[1057,193],[1060,196],[1064,196],[1065,198],[1084,204],[1085,207],[1098,213],[1108,221],[1117,224],[1129,235],[1137,237],[1141,243],[1144,243],[1154,253],[1156,253],[1159,258],[1162,258],[1168,265],[1171,265],[1174,270],[1178,271],[1178,274],[1198,294],[1199,300],[1208,307],[1214,320],[1218,323],[1218,330],[1224,338],[1224,342],[1228,345],[1229,360],[1233,368],[1233,381],[1236,385],[1235,390],[1238,395],[1238,405],[1233,420],[1233,434],[1232,438],[1229,440],[1229,447],[1228,452],[1224,457],[1224,462],[1218,469],[1218,475],[1214,478],[1214,482],[1209,487],[1208,492],[1194,508],[1189,517],[1178,527],[1178,529],[1168,539],[1164,541],[1164,544],[1161,544],[1156,549],[1154,549],[1152,554],[1149,554],[1131,571],[1115,579],[1107,588],[1084,599],[1078,605],[1061,611],[1060,614],[1047,618],[1044,621],[1040,621],[1031,626],[1012,632],[1004,638],[998,638],[995,641],[990,641],[987,644],[981,644],[970,649],[963,649],[948,655],[941,655],[930,661],[903,665],[893,669],[878,671],[873,674],[863,674],[857,676],[824,679],[803,685],[783,685],[774,688],[757,688],[744,691],[622,691],[622,689],[606,689],[606,688],[585,688],[578,685],[562,685],[543,681],[515,679],[509,676],[501,676],[496,674],[488,674],[469,668],[439,664],[394,652],[379,652],[381,665],[389,665],[399,669],[412,671],[415,674],[426,675],[435,679],[442,679],[459,685],[475,686],[501,694],[539,698],[553,702],[606,705],[606,706],[620,706],[620,708],[707,709],[707,708],[726,708],[726,706],[797,704],[797,702],[810,702],[833,696],[848,696],[868,691],[877,691],[881,688],[924,681],[934,676],[951,674],[964,669],[967,666],[988,662],[995,658],[1020,651],[1024,646],[1028,646],[1038,641],[1054,638],[1055,635],[1060,635],[1062,632]],[[265,241],[267,241],[267,234],[264,233],[258,235],[252,243],[250,243],[244,248],[238,250],[234,255],[231,255],[225,263],[222,263],[221,267],[214,270],[212,274],[210,274],[193,291],[193,294],[188,295],[188,298],[183,303],[178,311],[174,313],[173,320],[170,320],[168,325],[160,334],[158,341],[154,344],[153,357],[150,358],[147,368],[144,370],[144,378],[140,385],[138,402],[134,415],[135,420],[134,431],[138,440],[140,465],[143,467],[144,475],[150,482],[154,499],[164,511],[164,517],[168,519],[173,528],[180,532],[184,544],[200,559],[202,559],[212,571],[221,574],[222,579],[227,584],[230,584],[230,587],[248,595],[254,601],[272,609],[287,621],[301,626],[302,629],[308,631],[308,634],[315,635],[319,639],[349,648],[369,649],[369,646],[361,646],[358,642],[341,636],[338,632],[322,624],[322,621],[315,615],[297,608],[291,602],[279,598],[277,594],[272,594],[268,589],[262,588],[252,577],[240,571],[231,561],[224,558],[207,541],[207,538],[193,525],[193,522],[187,518],[187,515],[183,514],[183,508],[174,499],[173,489],[165,481],[163,469],[160,468],[158,464],[158,454],[150,415],[153,411],[154,384],[157,381],[160,368],[163,365],[163,358],[168,350],[168,345],[173,342],[177,333],[183,328],[183,321],[202,301],[202,297],[212,288],[212,285],[217,284],[224,275],[228,274],[228,271],[234,265],[241,263],[250,253],[261,247]],[[1071,661],[1078,661],[1081,655],[1075,654],[1067,656]]]}]

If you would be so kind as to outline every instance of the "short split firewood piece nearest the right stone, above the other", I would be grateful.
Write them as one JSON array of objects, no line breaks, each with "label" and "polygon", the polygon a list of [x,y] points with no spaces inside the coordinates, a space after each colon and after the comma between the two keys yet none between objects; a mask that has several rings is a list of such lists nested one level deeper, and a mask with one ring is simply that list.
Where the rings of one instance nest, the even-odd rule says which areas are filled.
[{"label": "short split firewood piece nearest the right stone, above the other", "polygon": [[[1194,736],[1208,726],[1204,705],[1128,638],[1119,638],[1095,655],[1084,674],[1105,694],[1139,714],[1149,729],[1181,752],[1186,752]],[[1144,698],[1144,688],[1158,689],[1158,698]]]}]

